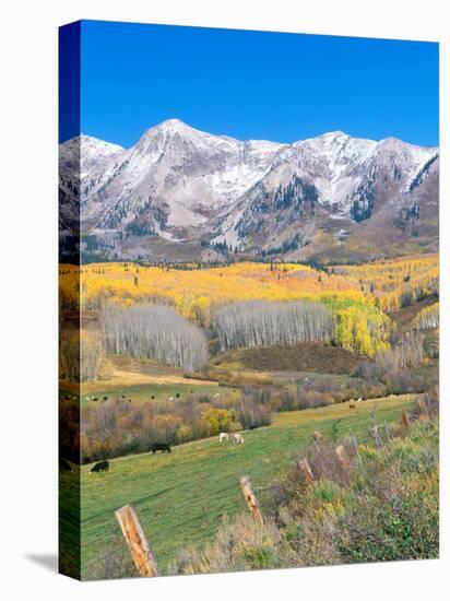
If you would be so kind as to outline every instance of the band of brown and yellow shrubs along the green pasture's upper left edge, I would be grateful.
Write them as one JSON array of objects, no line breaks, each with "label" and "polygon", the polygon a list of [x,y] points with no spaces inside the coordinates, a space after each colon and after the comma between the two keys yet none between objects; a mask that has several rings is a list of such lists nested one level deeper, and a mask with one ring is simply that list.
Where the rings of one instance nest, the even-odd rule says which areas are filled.
[{"label": "band of brown and yellow shrubs along the green pasture's upper left edge", "polygon": [[74,462],[88,463],[138,452],[146,452],[154,443],[180,445],[271,423],[270,397],[263,400],[248,389],[242,397],[190,394],[183,399],[129,403],[114,398],[83,408],[78,446],[76,403],[60,406],[61,455]]}]

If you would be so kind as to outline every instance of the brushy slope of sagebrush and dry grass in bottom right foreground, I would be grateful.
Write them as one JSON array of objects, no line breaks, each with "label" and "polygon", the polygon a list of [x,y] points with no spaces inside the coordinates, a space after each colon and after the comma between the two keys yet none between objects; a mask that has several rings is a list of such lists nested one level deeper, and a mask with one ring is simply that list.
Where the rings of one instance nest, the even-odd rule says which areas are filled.
[{"label": "brushy slope of sagebrush and dry grass in bottom right foreground", "polygon": [[[424,405],[425,406],[425,405]],[[293,463],[271,488],[265,523],[248,511],[225,520],[212,544],[186,549],[171,574],[208,574],[439,556],[437,406],[412,427],[394,426],[376,445],[347,444],[348,468],[335,445],[308,451],[313,479]],[[122,563],[125,567],[126,564]],[[121,574],[123,573],[123,567]],[[117,573],[119,574],[119,573]],[[127,574],[132,574],[131,566]]]}]

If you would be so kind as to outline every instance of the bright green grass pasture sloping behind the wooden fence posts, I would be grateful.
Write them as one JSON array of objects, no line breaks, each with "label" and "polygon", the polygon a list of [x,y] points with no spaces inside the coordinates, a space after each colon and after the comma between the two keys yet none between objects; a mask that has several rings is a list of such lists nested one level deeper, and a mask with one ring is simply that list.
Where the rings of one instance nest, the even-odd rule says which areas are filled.
[{"label": "bright green grass pasture sloping behind the wooden fence posts", "polygon": [[[410,396],[360,403],[282,413],[271,426],[245,433],[245,445],[234,447],[217,439],[200,440],[174,448],[170,455],[139,455],[110,462],[109,473],[90,475],[81,470],[82,481],[82,566],[85,578],[96,576],[98,559],[117,544],[115,509],[132,504],[151,541],[161,569],[177,551],[203,545],[214,538],[224,515],[245,507],[237,481],[250,474],[264,507],[267,486],[287,470],[292,459],[319,429],[325,437],[344,437],[351,432],[359,441],[369,436],[369,426],[399,419]],[[70,486],[74,474],[63,473]],[[71,509],[62,512],[70,530]]]}]

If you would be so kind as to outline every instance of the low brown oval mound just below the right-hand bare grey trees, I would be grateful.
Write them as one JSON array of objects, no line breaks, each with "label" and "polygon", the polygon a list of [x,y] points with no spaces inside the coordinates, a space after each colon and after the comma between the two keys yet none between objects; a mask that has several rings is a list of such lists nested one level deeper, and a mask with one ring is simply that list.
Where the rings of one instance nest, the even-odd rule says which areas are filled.
[{"label": "low brown oval mound just below the right-hand bare grey trees", "polygon": [[217,366],[230,363],[258,372],[320,372],[351,374],[363,357],[339,346],[297,344],[230,351],[214,361]]}]

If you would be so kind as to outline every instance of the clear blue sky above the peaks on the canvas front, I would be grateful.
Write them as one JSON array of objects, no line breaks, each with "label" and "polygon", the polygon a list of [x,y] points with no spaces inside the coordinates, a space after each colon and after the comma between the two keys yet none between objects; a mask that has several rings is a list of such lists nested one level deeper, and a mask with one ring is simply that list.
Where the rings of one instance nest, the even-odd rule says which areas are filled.
[{"label": "clear blue sky above the peaks on the canvas front", "polygon": [[241,140],[327,131],[438,144],[438,44],[83,21],[81,129],[169,118]]}]

